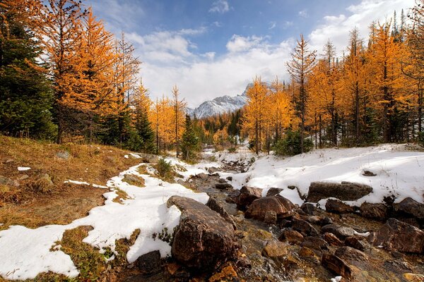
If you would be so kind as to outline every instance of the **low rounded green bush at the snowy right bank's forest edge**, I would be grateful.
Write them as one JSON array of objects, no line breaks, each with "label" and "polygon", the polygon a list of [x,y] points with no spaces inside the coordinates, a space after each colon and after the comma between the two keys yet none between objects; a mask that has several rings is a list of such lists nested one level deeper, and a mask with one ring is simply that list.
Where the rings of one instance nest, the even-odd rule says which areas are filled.
[{"label": "low rounded green bush at the snowy right bank's forest edge", "polygon": [[[303,152],[309,152],[314,147],[312,140],[305,138],[303,140]],[[288,130],[283,139],[278,140],[274,146],[274,152],[278,156],[293,156],[301,154],[302,148],[300,147],[300,132]]]}]

